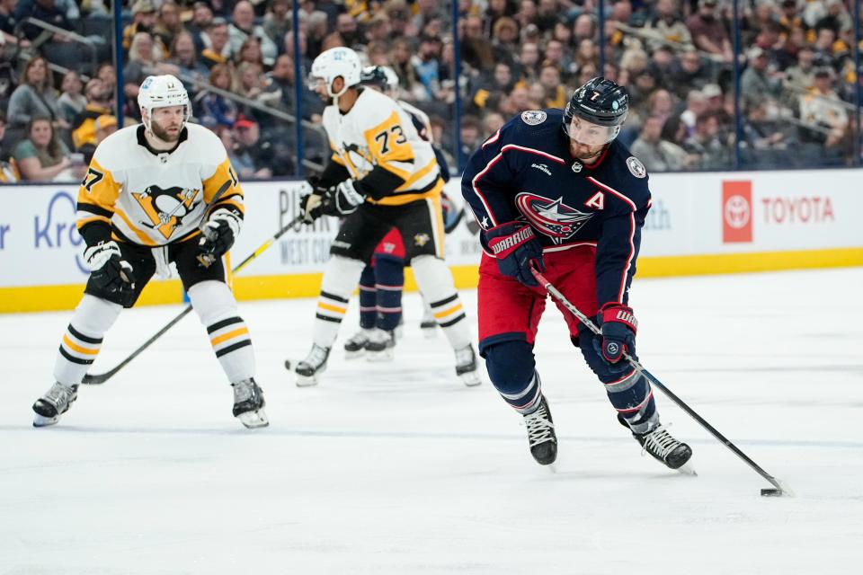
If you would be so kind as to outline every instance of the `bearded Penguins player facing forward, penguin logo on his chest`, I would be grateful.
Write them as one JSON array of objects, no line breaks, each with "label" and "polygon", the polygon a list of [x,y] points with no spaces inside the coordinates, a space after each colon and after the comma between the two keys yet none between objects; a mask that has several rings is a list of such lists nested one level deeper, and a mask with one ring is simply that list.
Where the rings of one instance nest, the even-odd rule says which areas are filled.
[{"label": "bearded Penguins player facing forward, penguin logo on his chest", "polygon": [[227,251],[243,223],[243,190],[218,137],[187,123],[191,103],[177,78],[148,76],[138,105],[143,123],[102,141],[78,190],[90,279],[60,342],[56,383],[33,404],[33,425],[68,411],[105,332],[173,262],[234,388],[234,416],[264,427],[252,341],[229,288]]}]

